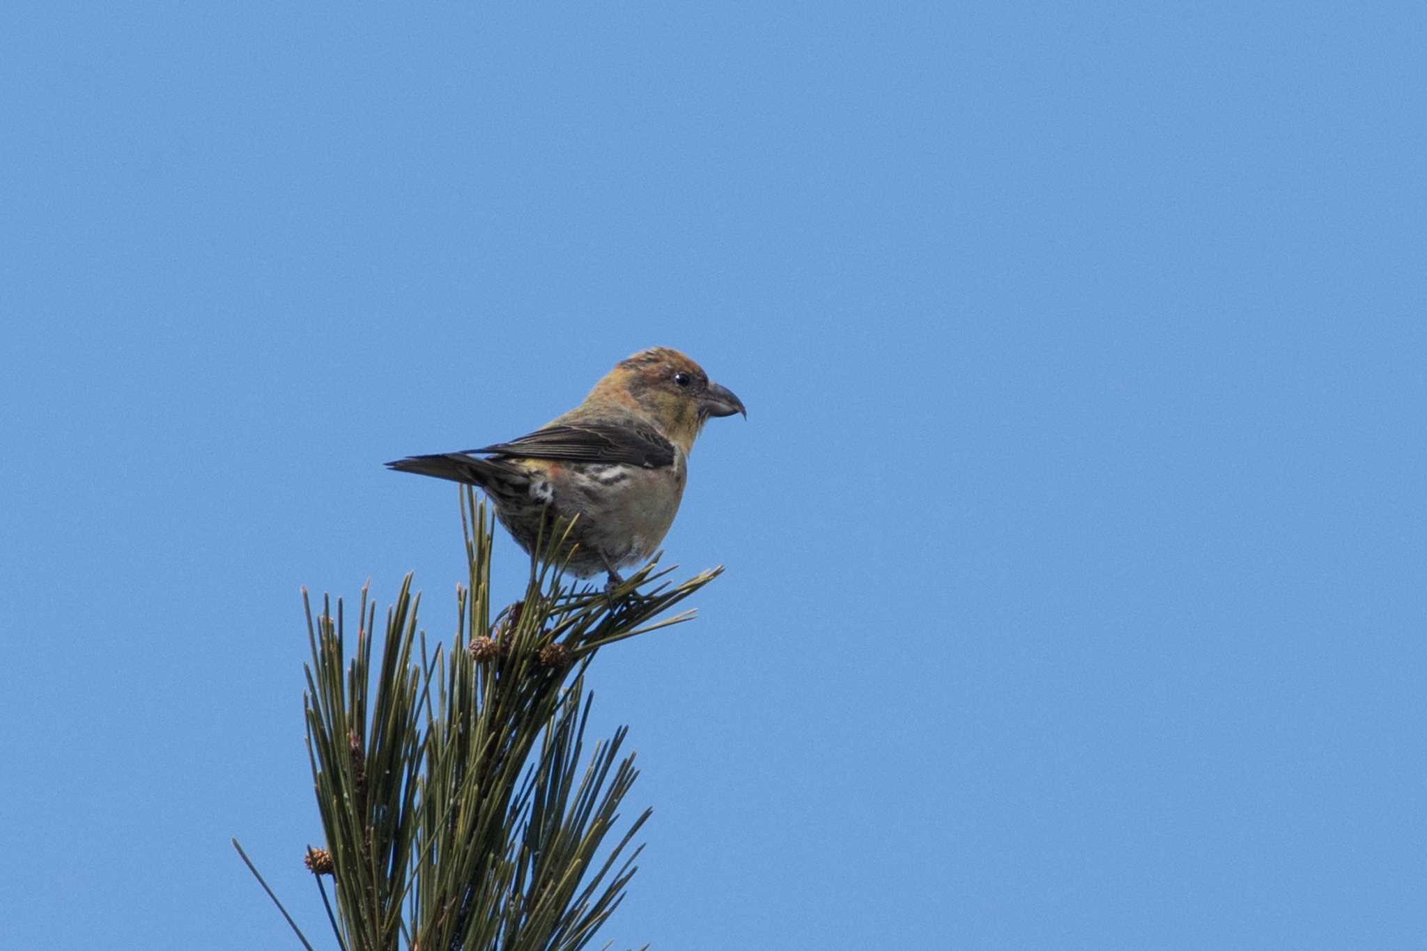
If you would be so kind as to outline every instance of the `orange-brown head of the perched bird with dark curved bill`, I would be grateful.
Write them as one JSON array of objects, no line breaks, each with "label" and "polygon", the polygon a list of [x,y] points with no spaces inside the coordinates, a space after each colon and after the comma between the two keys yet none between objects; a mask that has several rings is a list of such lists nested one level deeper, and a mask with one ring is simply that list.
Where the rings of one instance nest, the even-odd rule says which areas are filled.
[{"label": "orange-brown head of the perched bird with dark curved bill", "polygon": [[704,368],[676,349],[654,346],[619,361],[591,398],[608,399],[648,416],[685,452],[709,416],[743,413],[743,401],[709,381]]}]

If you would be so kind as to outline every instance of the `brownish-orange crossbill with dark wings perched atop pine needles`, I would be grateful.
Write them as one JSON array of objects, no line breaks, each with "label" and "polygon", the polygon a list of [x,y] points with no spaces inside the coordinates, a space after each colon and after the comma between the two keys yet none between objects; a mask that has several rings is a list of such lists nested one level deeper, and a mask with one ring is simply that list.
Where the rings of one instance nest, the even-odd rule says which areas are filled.
[{"label": "brownish-orange crossbill with dark wings perched atop pine needles", "polygon": [[609,576],[654,556],[688,482],[689,452],[711,416],[748,411],[676,349],[652,346],[615,364],[585,401],[535,432],[479,449],[407,456],[398,472],[479,486],[515,542],[534,553],[557,519],[578,516],[565,570]]}]

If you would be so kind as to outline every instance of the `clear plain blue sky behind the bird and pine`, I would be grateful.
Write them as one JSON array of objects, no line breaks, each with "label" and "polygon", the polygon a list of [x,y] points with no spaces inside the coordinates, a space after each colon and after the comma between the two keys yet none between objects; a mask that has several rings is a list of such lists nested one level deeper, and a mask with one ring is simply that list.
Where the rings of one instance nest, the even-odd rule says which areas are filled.
[{"label": "clear plain blue sky behind the bird and pine", "polygon": [[1420,4],[3,21],[0,945],[295,947],[230,836],[320,935],[298,586],[448,636],[381,462],[655,344],[749,418],[605,937],[1427,944]]}]

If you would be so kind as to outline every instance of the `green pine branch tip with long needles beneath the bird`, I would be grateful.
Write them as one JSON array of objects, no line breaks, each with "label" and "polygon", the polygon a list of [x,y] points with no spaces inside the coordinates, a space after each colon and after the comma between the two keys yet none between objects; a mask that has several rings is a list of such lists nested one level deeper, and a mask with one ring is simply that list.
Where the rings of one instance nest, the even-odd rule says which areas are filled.
[{"label": "green pine branch tip with long needles beneath the bird", "polygon": [[344,951],[577,951],[594,940],[636,871],[649,810],[606,845],[638,770],[624,727],[586,756],[585,670],[606,644],[692,617],[661,616],[722,570],[672,583],[651,562],[612,592],[567,583],[561,523],[531,559],[524,597],[492,610],[494,516],[471,489],[461,502],[468,585],[457,586],[448,650],[428,652],[410,575],[375,654],[365,586],[355,643],[341,600],[334,613],[324,597],[314,619],[303,595],[308,757]]}]

